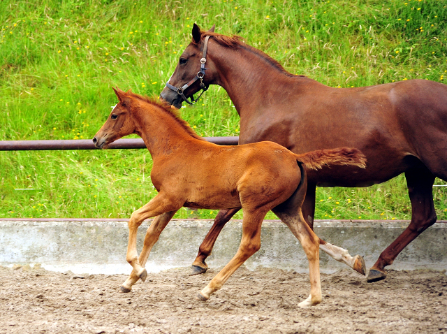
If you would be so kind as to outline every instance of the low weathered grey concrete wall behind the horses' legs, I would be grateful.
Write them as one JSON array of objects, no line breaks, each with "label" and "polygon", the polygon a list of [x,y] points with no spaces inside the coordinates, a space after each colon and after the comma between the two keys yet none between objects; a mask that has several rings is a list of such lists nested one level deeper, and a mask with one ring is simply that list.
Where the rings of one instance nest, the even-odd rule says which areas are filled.
[{"label": "low weathered grey concrete wall behind the horses' legs", "polygon": [[[150,222],[138,232],[138,250]],[[400,235],[409,222],[316,221],[315,232],[324,240],[344,247],[351,255],[365,257],[367,268]],[[198,246],[212,226],[211,221],[174,219],[161,233],[147,263],[148,271],[190,266]],[[242,223],[228,222],[216,242],[210,267],[225,265],[235,254]],[[26,221],[0,220],[0,264],[41,263],[48,270],[73,273],[130,273],[126,263],[127,222],[119,221]],[[279,221],[265,221],[259,252],[246,262],[248,268],[269,266],[307,272],[307,259],[298,240]],[[321,271],[330,273],[345,266],[321,253]],[[396,270],[447,269],[447,224],[430,227],[397,256]]]}]

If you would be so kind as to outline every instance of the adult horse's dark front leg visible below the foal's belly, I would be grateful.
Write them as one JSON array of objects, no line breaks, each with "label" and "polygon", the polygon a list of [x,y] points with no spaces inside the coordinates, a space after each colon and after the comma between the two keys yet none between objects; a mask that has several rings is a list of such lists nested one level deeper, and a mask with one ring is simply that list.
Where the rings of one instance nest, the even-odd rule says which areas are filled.
[{"label": "adult horse's dark front leg visible below the foal's belly", "polygon": [[210,256],[212,247],[214,247],[214,242],[216,242],[219,233],[221,233],[223,226],[235,215],[240,208],[220,210],[214,219],[214,224],[212,228],[207,233],[205,239],[203,239],[202,244],[198,248],[198,254],[196,260],[194,260],[192,265],[191,275],[203,274],[207,271],[207,264],[205,259]]}]

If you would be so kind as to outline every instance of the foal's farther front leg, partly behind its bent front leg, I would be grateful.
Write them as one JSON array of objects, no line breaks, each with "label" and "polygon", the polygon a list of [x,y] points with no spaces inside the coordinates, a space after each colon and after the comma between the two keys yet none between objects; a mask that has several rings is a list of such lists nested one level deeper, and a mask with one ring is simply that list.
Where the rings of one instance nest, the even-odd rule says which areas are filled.
[{"label": "foal's farther front leg, partly behind its bent front leg", "polygon": [[[170,219],[175,215],[175,212],[177,210],[173,210],[170,212],[165,212],[157,217],[154,218],[154,222],[150,224],[150,226],[147,228],[146,236],[145,236],[145,243],[142,247],[142,251],[140,253],[140,257],[138,258],[138,262],[140,263],[140,266],[143,268],[146,265],[147,258],[149,257],[149,253],[151,252],[152,246],[155,245],[155,242],[159,240],[159,236],[163,229],[168,225],[168,222]],[[138,279],[142,279],[142,281],[145,281],[147,272],[143,273],[143,275],[138,275],[138,273],[135,270],[132,270],[131,275],[128,279],[126,279],[126,282],[121,286],[122,292],[130,292],[132,289],[133,284],[135,284]]]}]

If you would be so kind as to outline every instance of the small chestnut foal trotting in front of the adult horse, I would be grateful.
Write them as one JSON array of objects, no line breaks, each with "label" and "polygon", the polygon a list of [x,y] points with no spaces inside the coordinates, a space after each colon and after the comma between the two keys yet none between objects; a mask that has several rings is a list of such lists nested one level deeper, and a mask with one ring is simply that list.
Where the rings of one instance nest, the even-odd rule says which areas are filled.
[{"label": "small chestnut foal trotting in front of the adult horse", "polygon": [[[175,212],[182,208],[242,208],[242,240],[237,253],[211,280],[198,298],[207,300],[228,277],[261,247],[261,224],[272,210],[291,229],[309,260],[311,292],[300,307],[321,302],[319,238],[301,213],[307,179],[305,168],[325,164],[365,168],[365,157],[356,149],[339,148],[294,154],[279,144],[260,142],[219,146],[198,136],[167,105],[120,89],[114,89],[119,103],[93,141],[105,148],[114,140],[137,133],[153,159],[151,180],[159,194],[136,210],[129,219],[126,260],[133,270],[121,287],[129,292],[142,279],[152,246]],[[155,217],[147,229],[138,258],[136,236],[144,219]]]}]

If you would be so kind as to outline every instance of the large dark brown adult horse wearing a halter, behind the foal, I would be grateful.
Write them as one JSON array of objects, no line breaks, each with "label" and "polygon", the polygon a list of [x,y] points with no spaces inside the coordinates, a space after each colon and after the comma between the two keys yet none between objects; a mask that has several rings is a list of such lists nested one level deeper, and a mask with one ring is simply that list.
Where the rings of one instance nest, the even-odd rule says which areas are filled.
[{"label": "large dark brown adult horse wearing a halter, behind the foal", "polygon": [[[381,253],[367,279],[374,282],[385,278],[384,268],[437,220],[432,185],[434,177],[447,181],[447,85],[407,80],[332,88],[288,73],[277,61],[240,38],[215,34],[214,27],[200,31],[194,25],[192,35],[192,42],[169,80],[170,86],[161,92],[165,101],[179,108],[183,96],[192,96],[200,87],[220,85],[240,115],[240,144],[272,140],[295,153],[349,146],[366,155],[365,170],[347,166],[309,170],[302,205],[309,226],[314,221],[317,185],[367,187],[405,173],[411,223]],[[198,73],[201,58],[206,59],[202,61],[205,75],[204,71]],[[196,73],[200,80],[185,85]],[[182,87],[184,95],[172,87]],[[221,228],[235,212],[237,209],[224,210],[217,215],[193,263],[199,272],[205,272],[205,259]]]}]

